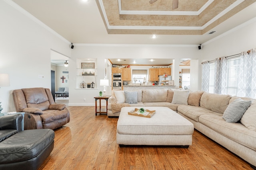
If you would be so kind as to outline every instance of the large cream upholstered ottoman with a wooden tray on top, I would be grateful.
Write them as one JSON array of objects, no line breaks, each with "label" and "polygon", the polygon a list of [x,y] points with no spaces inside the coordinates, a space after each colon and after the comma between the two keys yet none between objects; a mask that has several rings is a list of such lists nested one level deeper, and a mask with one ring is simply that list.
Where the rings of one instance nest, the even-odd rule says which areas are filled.
[{"label": "large cream upholstered ottoman with a wooden tray on top", "polygon": [[[116,128],[116,143],[124,145],[192,145],[194,125],[168,107],[143,107],[156,110],[151,117],[128,115],[135,107],[121,109]],[[139,108],[138,108],[139,109]]]}]

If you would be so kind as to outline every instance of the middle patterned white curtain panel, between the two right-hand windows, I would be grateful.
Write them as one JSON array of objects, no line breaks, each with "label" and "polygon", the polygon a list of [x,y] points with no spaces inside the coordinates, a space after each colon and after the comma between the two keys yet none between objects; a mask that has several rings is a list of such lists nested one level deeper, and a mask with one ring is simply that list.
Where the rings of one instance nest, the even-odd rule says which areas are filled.
[{"label": "middle patterned white curtain panel, between the two right-hand windows", "polygon": [[226,94],[227,59],[221,57],[215,59],[214,66],[214,93]]}]

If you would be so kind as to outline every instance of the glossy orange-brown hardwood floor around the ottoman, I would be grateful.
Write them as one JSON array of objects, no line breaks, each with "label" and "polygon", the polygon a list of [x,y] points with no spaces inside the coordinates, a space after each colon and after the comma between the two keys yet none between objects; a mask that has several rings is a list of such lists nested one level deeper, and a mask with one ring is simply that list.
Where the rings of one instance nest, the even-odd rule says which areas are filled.
[{"label": "glossy orange-brown hardwood floor around the ottoman", "polygon": [[250,164],[198,131],[188,149],[116,144],[118,118],[68,106],[70,123],[55,130],[54,149],[40,170],[248,170]]}]

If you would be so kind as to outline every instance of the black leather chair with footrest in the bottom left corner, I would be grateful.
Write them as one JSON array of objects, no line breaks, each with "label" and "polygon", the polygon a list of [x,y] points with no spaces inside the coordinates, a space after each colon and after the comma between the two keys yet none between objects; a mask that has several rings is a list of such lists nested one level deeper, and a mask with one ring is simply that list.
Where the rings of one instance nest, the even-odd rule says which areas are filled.
[{"label": "black leather chair with footrest in the bottom left corner", "polygon": [[54,148],[54,131],[21,131],[22,114],[0,117],[0,169],[37,170]]}]

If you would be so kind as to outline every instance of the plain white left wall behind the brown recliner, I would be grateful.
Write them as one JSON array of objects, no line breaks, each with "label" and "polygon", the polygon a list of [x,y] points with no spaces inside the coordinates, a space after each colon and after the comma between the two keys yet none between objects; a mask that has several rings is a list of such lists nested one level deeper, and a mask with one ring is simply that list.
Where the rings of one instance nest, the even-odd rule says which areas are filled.
[{"label": "plain white left wall behind the brown recliner", "polygon": [[[15,8],[14,8],[15,7]],[[60,39],[22,13],[12,1],[0,1],[0,73],[10,86],[0,88],[2,112],[16,111],[12,90],[51,86],[50,49],[70,56],[68,41]],[[39,79],[38,75],[43,75]]]}]

